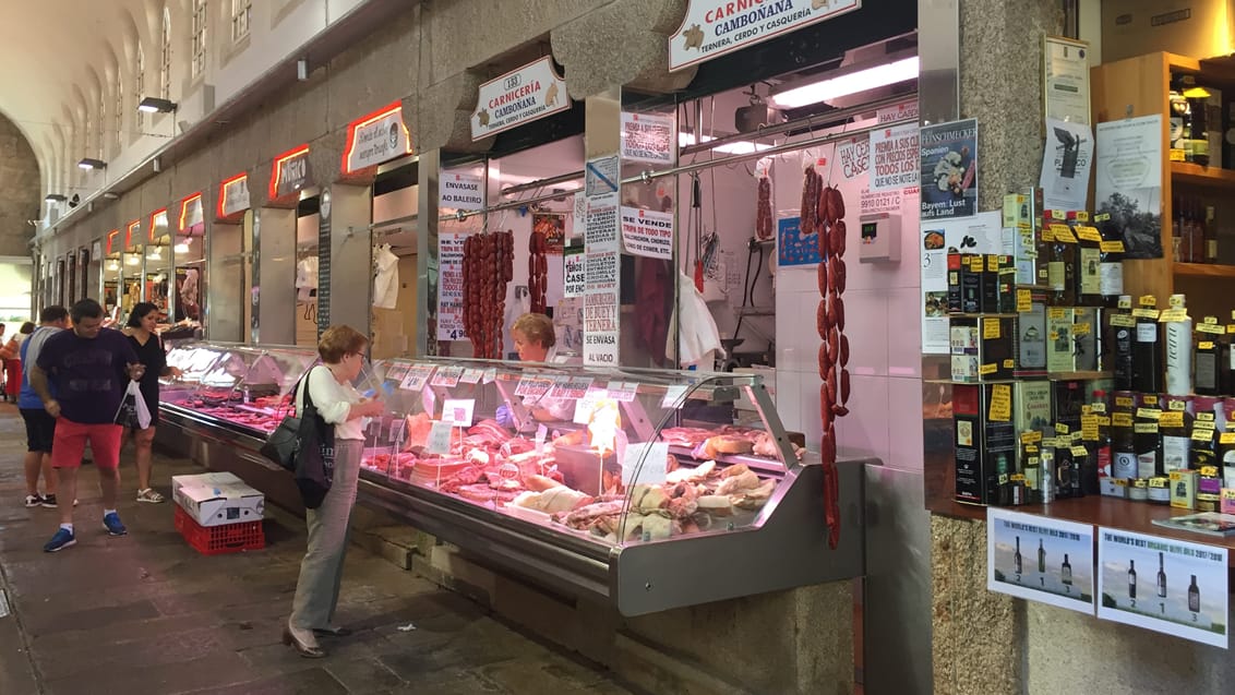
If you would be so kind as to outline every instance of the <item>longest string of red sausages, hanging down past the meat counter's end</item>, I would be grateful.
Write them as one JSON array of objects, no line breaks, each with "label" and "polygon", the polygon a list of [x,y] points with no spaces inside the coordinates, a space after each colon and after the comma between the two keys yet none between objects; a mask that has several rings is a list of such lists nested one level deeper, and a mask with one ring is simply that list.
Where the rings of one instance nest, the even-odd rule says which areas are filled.
[{"label": "longest string of red sausages, hanging down past the meat counter's end", "polygon": [[[808,231],[809,230],[809,231]],[[845,198],[840,189],[824,184],[814,167],[806,167],[802,190],[802,232],[818,233],[819,243],[819,309],[815,328],[819,346],[819,412],[823,439],[819,444],[824,468],[824,514],[827,541],[832,548],[840,542],[840,475],[836,470],[836,418],[848,415],[850,346],[845,336]]]}]

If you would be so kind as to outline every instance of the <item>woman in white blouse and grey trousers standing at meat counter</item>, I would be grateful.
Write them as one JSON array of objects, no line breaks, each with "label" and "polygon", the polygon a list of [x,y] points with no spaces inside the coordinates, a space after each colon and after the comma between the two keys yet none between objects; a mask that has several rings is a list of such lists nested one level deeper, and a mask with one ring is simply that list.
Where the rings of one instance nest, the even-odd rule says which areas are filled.
[{"label": "woman in white blouse and grey trousers standing at meat counter", "polygon": [[364,448],[364,418],[382,414],[382,402],[362,397],[352,386],[364,364],[369,339],[348,326],[331,326],[321,335],[317,354],[322,364],[309,370],[296,391],[296,412],[309,389],[317,414],[335,427],[335,477],[317,509],[305,510],[309,547],[300,563],[300,579],[283,643],[301,657],[326,655],[319,636],[346,637],[351,631],[331,621],[338,604],[338,585],[347,554],[347,525],[356,504],[356,485]]}]

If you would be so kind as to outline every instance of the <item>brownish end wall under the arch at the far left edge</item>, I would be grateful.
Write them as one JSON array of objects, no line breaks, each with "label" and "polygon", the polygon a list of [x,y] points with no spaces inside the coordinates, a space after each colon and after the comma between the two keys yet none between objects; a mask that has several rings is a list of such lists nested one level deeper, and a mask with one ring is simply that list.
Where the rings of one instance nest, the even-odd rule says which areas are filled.
[{"label": "brownish end wall under the arch at the far left edge", "polygon": [[0,256],[30,256],[35,227],[26,220],[42,215],[38,186],[35,151],[17,126],[0,115]]}]

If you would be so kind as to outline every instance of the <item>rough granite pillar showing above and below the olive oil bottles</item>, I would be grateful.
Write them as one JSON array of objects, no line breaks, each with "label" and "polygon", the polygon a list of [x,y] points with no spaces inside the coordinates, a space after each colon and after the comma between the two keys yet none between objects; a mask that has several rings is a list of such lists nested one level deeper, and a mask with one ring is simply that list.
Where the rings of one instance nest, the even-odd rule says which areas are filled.
[{"label": "rough granite pillar showing above and below the olive oil bottles", "polygon": [[[978,120],[978,209],[1037,181],[1042,162],[1042,37],[1062,32],[1053,0],[961,0],[961,119]],[[1024,690],[1024,601],[987,591],[982,521],[931,518],[936,695]]]}]

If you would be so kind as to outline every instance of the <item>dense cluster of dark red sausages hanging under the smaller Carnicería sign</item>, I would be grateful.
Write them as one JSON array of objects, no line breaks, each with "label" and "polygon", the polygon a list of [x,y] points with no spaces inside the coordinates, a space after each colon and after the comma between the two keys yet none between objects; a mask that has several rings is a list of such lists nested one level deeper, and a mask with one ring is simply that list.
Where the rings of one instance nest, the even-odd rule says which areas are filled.
[{"label": "dense cluster of dark red sausages hanging under the smaller Carnicer\u00eda sign", "polygon": [[515,236],[510,231],[472,235],[463,242],[463,328],[472,354],[501,357],[506,284],[514,278]]}]

